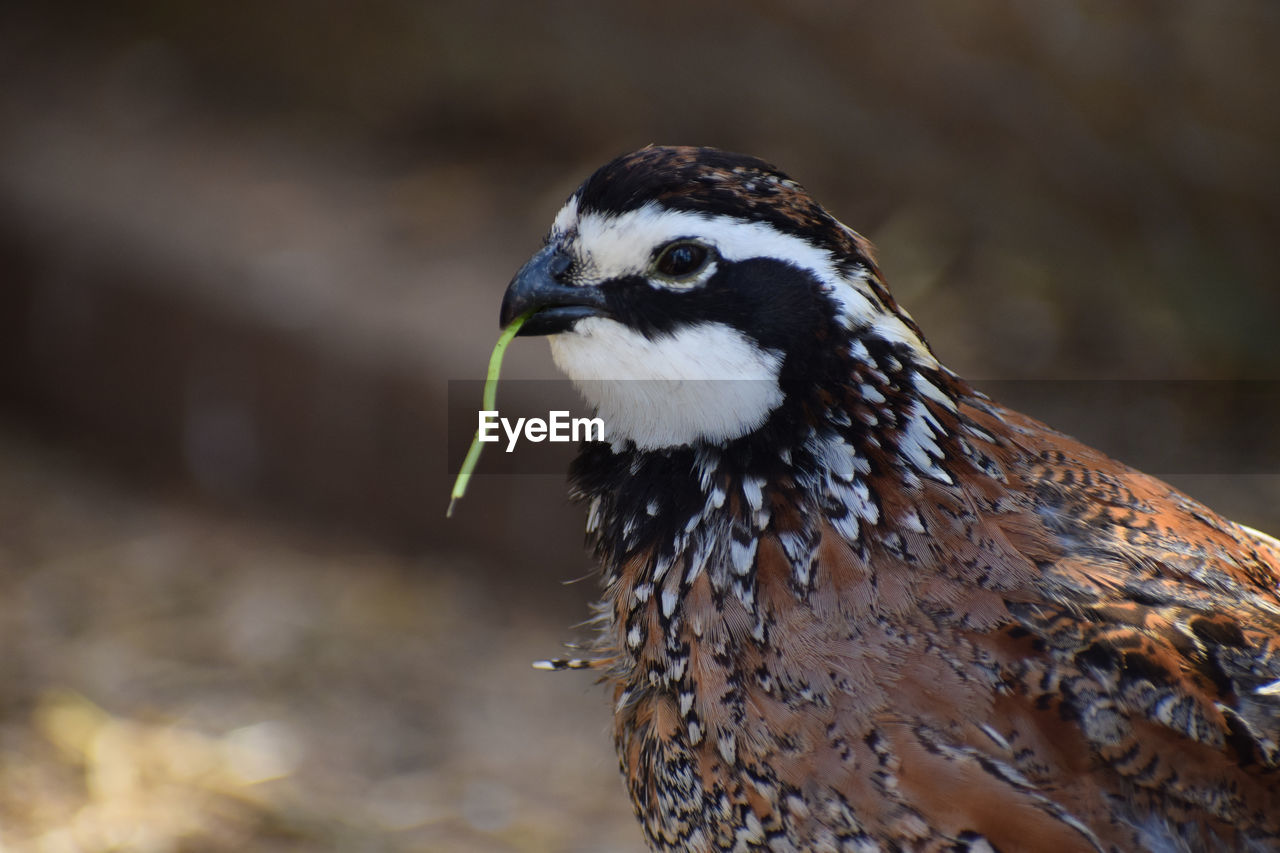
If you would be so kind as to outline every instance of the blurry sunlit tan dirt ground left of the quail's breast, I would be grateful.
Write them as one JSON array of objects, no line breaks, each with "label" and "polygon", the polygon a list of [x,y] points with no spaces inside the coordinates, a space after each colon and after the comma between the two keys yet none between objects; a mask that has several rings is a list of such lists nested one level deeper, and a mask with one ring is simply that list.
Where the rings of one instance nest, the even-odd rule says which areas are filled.
[{"label": "blurry sunlit tan dirt ground left of the quail's breast", "polygon": [[641,849],[603,692],[530,669],[563,615],[484,566],[0,469],[0,849]]}]

